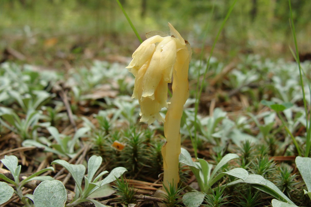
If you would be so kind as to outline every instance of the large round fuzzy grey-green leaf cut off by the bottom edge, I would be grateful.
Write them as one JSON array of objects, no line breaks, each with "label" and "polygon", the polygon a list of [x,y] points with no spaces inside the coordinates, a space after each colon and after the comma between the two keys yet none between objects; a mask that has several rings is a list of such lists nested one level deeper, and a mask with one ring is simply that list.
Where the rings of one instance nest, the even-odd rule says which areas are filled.
[{"label": "large round fuzzy grey-green leaf cut off by the bottom edge", "polygon": [[65,206],[67,191],[59,180],[43,181],[34,191],[34,204],[36,207]]}]

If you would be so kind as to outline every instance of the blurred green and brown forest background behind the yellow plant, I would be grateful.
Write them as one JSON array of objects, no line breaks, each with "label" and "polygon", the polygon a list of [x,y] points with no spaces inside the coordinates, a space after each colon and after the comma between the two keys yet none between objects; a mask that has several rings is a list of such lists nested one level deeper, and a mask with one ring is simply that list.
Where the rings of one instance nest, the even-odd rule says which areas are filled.
[{"label": "blurred green and brown forest background behind the yellow plant", "polygon": [[[187,39],[194,58],[205,43],[205,56],[215,39],[230,0],[120,0],[143,39],[151,30],[168,30],[167,22]],[[293,0],[300,52],[310,52],[311,1]],[[27,61],[55,65],[64,56],[80,60],[130,56],[139,45],[114,0],[1,0],[0,51],[12,47]],[[204,34],[207,33],[207,38]],[[215,56],[240,53],[291,58],[287,1],[239,0],[216,45]],[[87,51],[86,51],[87,50]],[[81,56],[79,56],[81,54]],[[56,60],[56,61],[55,61]]]}]

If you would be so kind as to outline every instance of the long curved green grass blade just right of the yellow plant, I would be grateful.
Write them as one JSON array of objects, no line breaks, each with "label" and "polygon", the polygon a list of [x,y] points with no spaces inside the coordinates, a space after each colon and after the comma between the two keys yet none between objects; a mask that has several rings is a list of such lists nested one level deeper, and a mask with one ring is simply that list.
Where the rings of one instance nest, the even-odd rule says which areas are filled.
[{"label": "long curved green grass blade just right of the yellow plant", "polygon": [[[201,82],[201,85],[200,85],[200,72],[198,72],[198,77],[197,77],[197,88],[196,88],[196,101],[195,101],[195,111],[194,111],[194,141],[192,142],[193,144],[193,149],[194,149],[194,153],[195,153],[195,157],[197,157],[197,112],[198,112],[198,108],[199,108],[199,102],[200,102],[200,97],[201,97],[201,94],[202,94],[202,90],[203,90],[203,83],[204,83],[204,80],[205,80],[205,77],[206,77],[206,74],[209,70],[209,65],[210,65],[210,60],[211,60],[211,56],[213,55],[213,52],[214,52],[214,48],[215,48],[215,45],[217,43],[217,40],[220,36],[220,33],[222,31],[222,29],[224,28],[225,26],[225,23],[226,21],[228,20],[230,14],[231,14],[231,11],[233,10],[234,8],[234,5],[235,3],[237,2],[237,0],[234,0],[234,2],[231,4],[226,16],[225,16],[225,19],[222,21],[221,23],[221,26],[220,26],[220,29],[218,30],[218,33],[216,35],[216,38],[214,40],[214,43],[213,43],[213,46],[211,48],[211,52],[210,52],[210,56],[207,60],[207,65],[206,65],[206,68],[205,68],[205,71],[204,71],[204,74],[203,74],[203,79],[202,79],[202,82]],[[207,29],[207,28],[206,28]],[[206,37],[205,37],[206,38]],[[201,51],[201,60],[200,60],[200,65],[201,65],[201,62],[202,62],[202,54],[203,54],[203,48],[204,48],[204,43],[202,45],[202,51]],[[200,87],[199,87],[200,85]]]}]

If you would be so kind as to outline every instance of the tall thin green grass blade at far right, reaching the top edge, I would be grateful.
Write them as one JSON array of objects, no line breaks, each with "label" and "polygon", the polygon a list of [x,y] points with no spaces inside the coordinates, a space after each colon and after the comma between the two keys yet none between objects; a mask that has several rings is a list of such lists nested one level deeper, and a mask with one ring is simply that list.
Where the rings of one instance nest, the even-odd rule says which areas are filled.
[{"label": "tall thin green grass blade at far right, reaching the top edge", "polygon": [[311,126],[310,126],[310,121],[309,119],[309,114],[308,114],[308,106],[307,106],[307,101],[306,101],[306,96],[305,96],[305,92],[304,92],[304,81],[303,81],[303,76],[302,76],[302,69],[300,66],[300,60],[299,60],[299,52],[298,52],[298,44],[297,44],[297,38],[296,38],[296,32],[295,32],[295,25],[294,25],[294,19],[293,19],[293,12],[291,9],[291,2],[290,0],[288,0],[288,4],[290,7],[290,29],[294,38],[294,43],[295,43],[295,50],[296,50],[296,54],[295,54],[295,60],[298,63],[298,68],[299,68],[299,77],[300,77],[300,86],[301,86],[301,90],[302,90],[302,95],[303,95],[303,102],[304,102],[304,110],[305,110],[305,116],[306,116],[306,149],[305,149],[305,157],[309,156],[310,153],[310,148],[311,148]]}]

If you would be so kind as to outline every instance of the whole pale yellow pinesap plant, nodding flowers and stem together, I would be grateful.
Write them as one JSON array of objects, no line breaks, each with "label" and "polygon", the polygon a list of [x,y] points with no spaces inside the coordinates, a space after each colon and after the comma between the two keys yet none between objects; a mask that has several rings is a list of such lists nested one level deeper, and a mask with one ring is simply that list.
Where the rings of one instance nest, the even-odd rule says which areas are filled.
[{"label": "whole pale yellow pinesap plant, nodding flowers and stem together", "polygon": [[[156,119],[164,122],[166,143],[162,148],[163,183],[177,186],[179,182],[180,119],[183,105],[189,96],[188,69],[191,47],[169,23],[170,36],[152,36],[133,53],[127,66],[135,76],[132,98],[141,106],[140,121],[152,124]],[[172,83],[173,95],[167,101],[167,85]],[[166,107],[165,119],[160,110]]]}]

